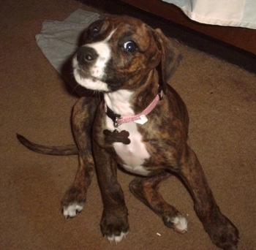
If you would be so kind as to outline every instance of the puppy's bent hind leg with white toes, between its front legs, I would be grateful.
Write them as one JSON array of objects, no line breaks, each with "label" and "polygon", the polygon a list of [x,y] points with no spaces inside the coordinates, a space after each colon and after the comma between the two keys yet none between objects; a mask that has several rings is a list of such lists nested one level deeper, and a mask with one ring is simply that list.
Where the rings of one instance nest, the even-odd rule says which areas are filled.
[{"label": "puppy's bent hind leg with white toes, between its front legs", "polygon": [[162,217],[165,226],[173,228],[176,232],[184,233],[187,231],[187,219],[159,194],[159,184],[170,175],[170,173],[163,172],[151,177],[136,177],[129,184],[129,189],[135,197]]}]

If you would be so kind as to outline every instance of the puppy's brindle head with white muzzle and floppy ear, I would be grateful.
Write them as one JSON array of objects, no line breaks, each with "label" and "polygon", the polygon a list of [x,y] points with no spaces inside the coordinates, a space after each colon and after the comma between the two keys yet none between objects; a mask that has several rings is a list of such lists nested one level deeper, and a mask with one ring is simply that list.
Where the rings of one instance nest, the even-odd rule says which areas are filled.
[{"label": "puppy's brindle head with white muzzle and floppy ear", "polygon": [[132,90],[160,69],[165,85],[179,61],[178,51],[159,29],[127,16],[97,20],[86,29],[73,58],[75,80],[96,91]]}]

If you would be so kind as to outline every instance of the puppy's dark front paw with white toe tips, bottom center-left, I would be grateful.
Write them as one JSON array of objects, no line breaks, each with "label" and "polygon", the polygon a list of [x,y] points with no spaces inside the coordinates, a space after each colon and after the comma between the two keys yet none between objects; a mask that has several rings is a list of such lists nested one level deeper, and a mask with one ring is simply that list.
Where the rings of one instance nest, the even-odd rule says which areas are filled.
[{"label": "puppy's dark front paw with white toe tips, bottom center-left", "polygon": [[110,242],[120,242],[129,232],[127,213],[103,213],[100,228]]}]

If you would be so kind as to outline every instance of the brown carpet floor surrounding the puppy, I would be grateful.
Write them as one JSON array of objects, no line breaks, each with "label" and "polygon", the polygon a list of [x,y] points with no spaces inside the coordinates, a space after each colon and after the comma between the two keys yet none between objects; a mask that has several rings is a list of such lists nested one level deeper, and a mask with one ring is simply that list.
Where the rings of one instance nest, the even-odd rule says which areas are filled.
[{"label": "brown carpet floor surrounding the puppy", "polygon": [[[172,178],[162,186],[184,213],[189,230],[178,235],[129,193],[132,176],[119,172],[130,232],[117,245],[102,238],[102,202],[96,178],[84,211],[65,219],[60,201],[72,183],[76,156],[45,156],[24,148],[16,132],[39,143],[72,143],[69,116],[77,100],[50,66],[34,36],[44,20],[63,20],[72,0],[0,2],[0,249],[217,249],[195,216],[191,197]],[[176,44],[184,56],[173,87],[187,103],[190,140],[222,211],[240,230],[238,249],[256,249],[256,76]],[[70,72],[71,73],[71,72]]]}]

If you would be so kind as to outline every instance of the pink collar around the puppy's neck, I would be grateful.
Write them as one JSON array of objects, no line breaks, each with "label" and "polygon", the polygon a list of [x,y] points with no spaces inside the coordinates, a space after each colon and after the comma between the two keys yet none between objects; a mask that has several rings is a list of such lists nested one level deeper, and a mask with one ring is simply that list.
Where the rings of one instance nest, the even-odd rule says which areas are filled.
[{"label": "pink collar around the puppy's neck", "polygon": [[105,113],[108,115],[109,118],[112,119],[115,128],[120,126],[121,124],[126,124],[131,121],[137,121],[140,120],[141,116],[146,116],[149,113],[151,113],[152,110],[154,110],[154,107],[156,107],[157,102],[162,99],[163,97],[163,91],[162,89],[159,90],[159,93],[157,96],[154,98],[154,100],[146,107],[143,112],[139,113],[138,115],[127,115],[127,116],[121,116],[113,112],[106,104],[105,104]]}]

